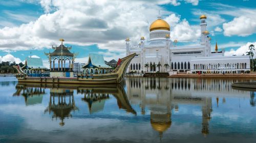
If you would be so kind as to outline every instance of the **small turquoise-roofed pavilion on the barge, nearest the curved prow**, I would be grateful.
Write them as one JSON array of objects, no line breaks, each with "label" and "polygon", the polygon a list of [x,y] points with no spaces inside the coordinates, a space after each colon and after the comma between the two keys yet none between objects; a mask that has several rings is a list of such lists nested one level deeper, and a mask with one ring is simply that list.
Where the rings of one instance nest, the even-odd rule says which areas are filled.
[{"label": "small turquoise-roofed pavilion on the barge, nearest the curved prow", "polygon": [[86,74],[107,74],[112,67],[105,64],[102,55],[89,54],[88,63],[82,68]]}]

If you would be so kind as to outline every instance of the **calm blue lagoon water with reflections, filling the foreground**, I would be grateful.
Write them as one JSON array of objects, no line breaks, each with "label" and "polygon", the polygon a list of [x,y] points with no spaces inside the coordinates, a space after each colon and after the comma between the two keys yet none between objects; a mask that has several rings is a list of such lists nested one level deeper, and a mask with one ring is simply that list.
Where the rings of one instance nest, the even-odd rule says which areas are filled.
[{"label": "calm blue lagoon water with reflections, filling the foreground", "polygon": [[256,142],[244,79],[126,78],[122,85],[0,78],[0,142]]}]

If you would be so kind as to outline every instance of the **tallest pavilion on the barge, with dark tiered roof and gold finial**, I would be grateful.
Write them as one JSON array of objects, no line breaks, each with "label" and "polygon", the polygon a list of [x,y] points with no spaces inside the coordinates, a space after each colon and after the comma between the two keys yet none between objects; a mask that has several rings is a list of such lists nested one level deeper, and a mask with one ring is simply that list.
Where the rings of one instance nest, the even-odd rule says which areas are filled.
[{"label": "tallest pavilion on the barge, with dark tiered roof and gold finial", "polygon": [[72,46],[66,47],[64,39],[59,46],[52,46],[52,53],[45,53],[50,62],[50,77],[73,77],[72,65],[77,54],[71,53]]}]

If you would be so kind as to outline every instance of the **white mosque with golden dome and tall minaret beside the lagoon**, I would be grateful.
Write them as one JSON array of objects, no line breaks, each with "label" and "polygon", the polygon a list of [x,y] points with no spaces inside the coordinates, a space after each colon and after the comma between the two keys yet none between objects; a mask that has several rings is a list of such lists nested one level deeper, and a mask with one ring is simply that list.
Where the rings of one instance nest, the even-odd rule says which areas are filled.
[{"label": "white mosque with golden dome and tall minaret beside the lagoon", "polygon": [[[249,56],[224,56],[224,49],[211,51],[211,38],[207,31],[206,16],[200,16],[201,39],[195,46],[178,46],[178,40],[170,40],[170,26],[161,16],[150,26],[150,39],[141,37],[138,45],[131,46],[125,39],[126,55],[136,53],[128,71],[155,73],[244,73],[250,70]],[[161,66],[157,66],[158,64]],[[164,66],[168,64],[169,66]],[[148,66],[145,66],[148,65]]]}]

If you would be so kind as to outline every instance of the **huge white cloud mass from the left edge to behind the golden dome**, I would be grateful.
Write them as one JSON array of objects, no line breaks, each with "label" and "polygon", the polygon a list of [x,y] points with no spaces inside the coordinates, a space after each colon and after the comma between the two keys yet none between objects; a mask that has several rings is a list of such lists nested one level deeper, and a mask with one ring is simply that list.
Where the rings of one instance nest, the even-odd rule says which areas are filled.
[{"label": "huge white cloud mass from the left edge to behind the golden dome", "polygon": [[[36,1],[26,1],[34,3]],[[0,29],[0,50],[40,50],[65,43],[75,45],[97,44],[99,49],[124,52],[124,39],[131,40],[147,36],[148,27],[158,16],[158,10],[167,16],[170,25],[176,25],[174,33],[181,35],[180,40],[190,40],[198,27],[189,26],[186,20],[165,11],[159,4],[178,5],[178,1],[57,1],[41,0],[47,12],[35,21]],[[50,12],[50,13],[49,13]],[[174,18],[174,19],[170,19]],[[24,20],[24,19],[22,19]],[[180,33],[185,32],[185,33]],[[177,37],[176,36],[176,37]]]}]

